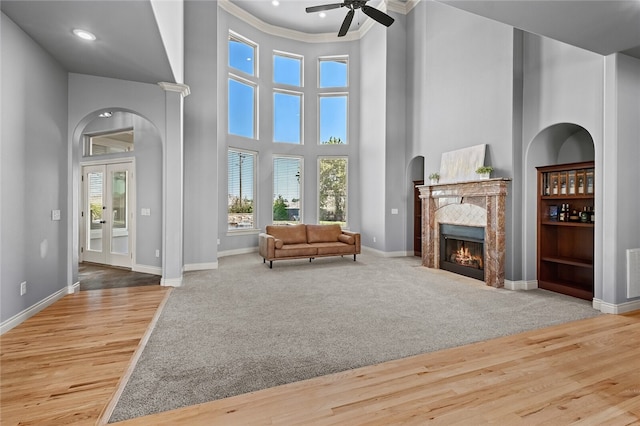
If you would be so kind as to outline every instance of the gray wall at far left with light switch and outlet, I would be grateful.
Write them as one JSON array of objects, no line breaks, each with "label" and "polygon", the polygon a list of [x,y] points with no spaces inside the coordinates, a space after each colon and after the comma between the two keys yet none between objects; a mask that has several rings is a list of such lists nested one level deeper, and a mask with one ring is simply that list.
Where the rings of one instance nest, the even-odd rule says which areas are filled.
[{"label": "gray wall at far left with light switch and outlet", "polygon": [[[67,284],[67,73],[4,13],[0,321]],[[51,210],[61,220],[51,220]],[[20,296],[20,283],[27,293]]]}]

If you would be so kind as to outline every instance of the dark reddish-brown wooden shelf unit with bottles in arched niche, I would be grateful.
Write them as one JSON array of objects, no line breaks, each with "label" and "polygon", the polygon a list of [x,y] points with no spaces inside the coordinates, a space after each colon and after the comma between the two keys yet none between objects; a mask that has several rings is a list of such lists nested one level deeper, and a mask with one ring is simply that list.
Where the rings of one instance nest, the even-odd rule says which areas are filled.
[{"label": "dark reddish-brown wooden shelf unit with bottles in arched niche", "polygon": [[[593,299],[594,224],[549,220],[549,212],[560,204],[591,210],[594,172],[592,161],[538,167],[538,287],[586,300]],[[549,188],[575,193],[545,194]]]}]

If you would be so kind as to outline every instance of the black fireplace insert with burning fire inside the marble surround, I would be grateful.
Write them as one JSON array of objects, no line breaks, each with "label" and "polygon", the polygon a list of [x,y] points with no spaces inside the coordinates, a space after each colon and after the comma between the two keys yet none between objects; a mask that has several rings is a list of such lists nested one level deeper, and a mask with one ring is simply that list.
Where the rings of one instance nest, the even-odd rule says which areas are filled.
[{"label": "black fireplace insert with burning fire inside the marble surround", "polygon": [[484,281],[484,228],[440,224],[440,269]]}]

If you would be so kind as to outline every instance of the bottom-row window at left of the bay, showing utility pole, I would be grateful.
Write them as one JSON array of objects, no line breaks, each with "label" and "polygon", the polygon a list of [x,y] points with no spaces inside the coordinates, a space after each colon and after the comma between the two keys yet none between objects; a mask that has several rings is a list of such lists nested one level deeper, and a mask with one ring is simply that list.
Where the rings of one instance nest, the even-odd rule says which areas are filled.
[{"label": "bottom-row window at left of the bay, showing utility pole", "polygon": [[254,229],[256,153],[229,149],[227,223],[229,230]]}]

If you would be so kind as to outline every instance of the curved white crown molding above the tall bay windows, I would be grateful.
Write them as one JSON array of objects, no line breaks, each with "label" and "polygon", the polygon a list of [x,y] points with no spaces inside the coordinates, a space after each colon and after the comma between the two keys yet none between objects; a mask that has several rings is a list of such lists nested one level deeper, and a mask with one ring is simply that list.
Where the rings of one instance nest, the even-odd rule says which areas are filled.
[{"label": "curved white crown molding above the tall bay windows", "polygon": [[[409,2],[416,2],[419,0],[409,0]],[[401,9],[403,9],[403,4],[397,0],[385,0],[380,4],[380,10],[382,12],[387,12],[387,3],[397,3],[397,6],[393,6],[393,9],[389,9],[396,13],[405,13]],[[335,43],[335,42],[345,42],[345,41],[355,41],[360,40],[364,35],[373,27],[374,21],[373,19],[367,19],[364,24],[360,26],[355,31],[349,31],[347,35],[344,37],[336,37],[335,33],[321,33],[321,34],[311,34],[305,33],[302,31],[296,31],[289,28],[278,27],[276,25],[271,25],[263,20],[256,18],[246,10],[241,7],[236,6],[231,3],[229,0],[218,0],[218,7],[222,8],[224,11],[229,14],[235,16],[236,18],[246,22],[252,27],[274,36],[288,38],[291,40],[299,40],[307,43]],[[398,10],[396,10],[396,8]]]}]

